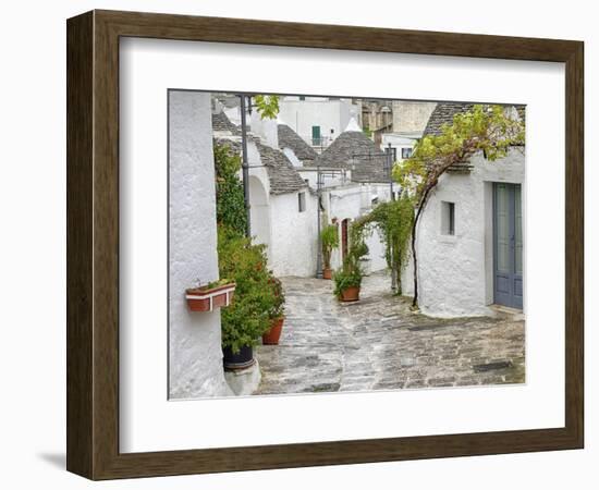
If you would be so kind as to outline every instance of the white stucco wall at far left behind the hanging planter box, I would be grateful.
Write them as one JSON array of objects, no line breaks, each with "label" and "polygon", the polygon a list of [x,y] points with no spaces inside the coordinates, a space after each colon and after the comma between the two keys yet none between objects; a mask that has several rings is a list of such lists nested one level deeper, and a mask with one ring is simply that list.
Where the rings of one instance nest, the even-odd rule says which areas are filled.
[{"label": "white stucco wall at far left behind the hanging planter box", "polygon": [[169,93],[169,395],[230,394],[220,313],[191,313],[185,290],[218,279],[210,95]]}]

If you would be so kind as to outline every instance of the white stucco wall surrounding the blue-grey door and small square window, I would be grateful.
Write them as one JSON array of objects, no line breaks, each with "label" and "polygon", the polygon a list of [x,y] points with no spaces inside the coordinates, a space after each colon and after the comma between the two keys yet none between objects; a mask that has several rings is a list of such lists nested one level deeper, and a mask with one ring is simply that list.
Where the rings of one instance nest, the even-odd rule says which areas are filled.
[{"label": "white stucco wall surrounding the blue-grey door and small square window", "polygon": [[[487,161],[472,158],[469,174],[444,174],[420,218],[417,233],[419,306],[428,315],[488,315],[493,303],[492,183],[524,184],[523,150]],[[526,187],[522,186],[524,260],[526,260]],[[441,203],[455,203],[455,235],[441,233]],[[413,265],[402,277],[413,295]],[[526,281],[526,278],[524,278]],[[526,291],[526,289],[525,289]],[[526,294],[526,293],[525,293]],[[524,298],[526,309],[526,297]]]}]

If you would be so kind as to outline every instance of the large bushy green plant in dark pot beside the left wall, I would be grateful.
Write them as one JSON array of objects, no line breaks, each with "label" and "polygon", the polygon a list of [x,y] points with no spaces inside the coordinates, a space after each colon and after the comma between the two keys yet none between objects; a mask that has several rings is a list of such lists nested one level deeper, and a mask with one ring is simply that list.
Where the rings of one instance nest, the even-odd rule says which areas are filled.
[{"label": "large bushy green plant in dark pot beside the left wall", "polygon": [[235,281],[235,301],[221,310],[224,368],[242,369],[254,364],[253,347],[271,327],[270,313],[277,303],[271,273],[266,267],[264,245],[228,226],[219,226],[219,271]]}]

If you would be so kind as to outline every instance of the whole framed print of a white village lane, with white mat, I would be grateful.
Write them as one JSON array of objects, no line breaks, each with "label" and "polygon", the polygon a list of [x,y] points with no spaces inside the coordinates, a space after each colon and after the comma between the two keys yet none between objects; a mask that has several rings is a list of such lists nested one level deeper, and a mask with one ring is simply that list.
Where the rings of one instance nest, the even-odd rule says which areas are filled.
[{"label": "whole framed print of a white village lane, with white mat", "polygon": [[583,42],[68,21],[68,469],[583,446]]}]

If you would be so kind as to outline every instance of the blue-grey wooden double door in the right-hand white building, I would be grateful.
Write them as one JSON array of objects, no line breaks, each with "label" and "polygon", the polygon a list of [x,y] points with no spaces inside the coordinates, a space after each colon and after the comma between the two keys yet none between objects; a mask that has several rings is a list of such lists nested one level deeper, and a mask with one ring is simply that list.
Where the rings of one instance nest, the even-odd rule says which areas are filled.
[{"label": "blue-grey wooden double door in the right-hand white building", "polygon": [[522,187],[493,184],[494,303],[522,309]]}]

